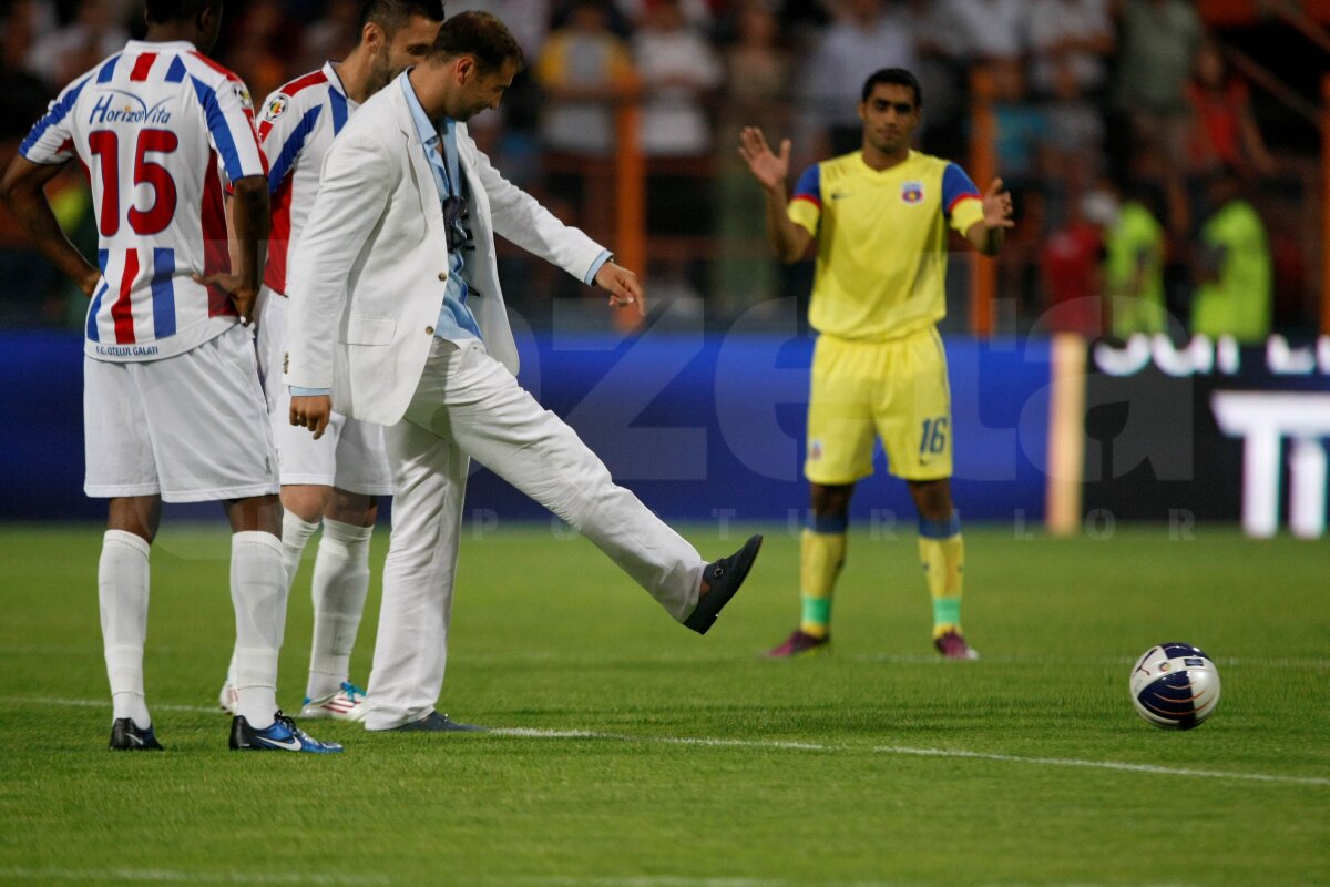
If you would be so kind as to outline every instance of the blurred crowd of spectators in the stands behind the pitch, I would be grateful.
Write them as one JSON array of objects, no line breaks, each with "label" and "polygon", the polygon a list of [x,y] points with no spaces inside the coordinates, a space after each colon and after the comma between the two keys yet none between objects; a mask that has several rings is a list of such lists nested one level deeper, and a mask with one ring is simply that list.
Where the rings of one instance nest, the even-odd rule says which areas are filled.
[{"label": "blurred crowd of spectators in the stands behind the pitch", "polygon": [[[340,57],[358,0],[229,0],[214,55],[259,100]],[[1230,332],[1314,326],[1314,134],[1271,150],[1234,53],[1186,0],[448,0],[509,24],[528,70],[472,132],[556,213],[614,242],[620,109],[640,108],[646,281],[658,301],[728,322],[803,298],[807,269],[765,246],[762,197],[735,154],[759,125],[794,168],[858,148],[859,89],[903,66],[923,84],[919,148],[970,166],[991,149],[1017,198],[999,259],[999,323]],[[4,160],[69,80],[142,31],[141,0],[8,0]],[[1305,88],[1294,84],[1294,88]],[[1317,84],[1310,86],[1315,94]],[[976,109],[996,122],[971,144]],[[1294,145],[1298,140],[1291,140]],[[983,188],[987,182],[979,182]],[[94,243],[78,177],[57,214]],[[0,210],[3,214],[3,210]],[[952,281],[963,305],[968,266]],[[573,281],[516,257],[505,291],[540,324]],[[77,323],[84,305],[0,221],[0,323]],[[1234,303],[1241,302],[1240,307]],[[964,328],[954,307],[951,328]]]}]

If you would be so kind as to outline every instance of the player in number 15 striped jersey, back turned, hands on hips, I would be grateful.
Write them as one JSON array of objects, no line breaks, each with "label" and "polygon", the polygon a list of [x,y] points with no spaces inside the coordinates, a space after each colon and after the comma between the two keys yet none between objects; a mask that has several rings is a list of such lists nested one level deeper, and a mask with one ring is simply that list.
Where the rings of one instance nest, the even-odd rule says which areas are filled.
[{"label": "player in number 15 striped jersey, back turned, hands on hips", "polygon": [[[97,569],[110,747],[160,749],[144,694],[148,556],[161,503],[222,500],[231,536],[238,705],[230,746],[327,753],[277,709],[286,624],[275,451],[249,332],[267,165],[235,74],[209,60],[221,0],[148,0],[148,33],[69,84],[0,184],[41,251],[92,299],[84,350],[89,496],[110,500]],[[88,170],[97,267],[43,186]],[[231,266],[219,173],[234,184]]]}]

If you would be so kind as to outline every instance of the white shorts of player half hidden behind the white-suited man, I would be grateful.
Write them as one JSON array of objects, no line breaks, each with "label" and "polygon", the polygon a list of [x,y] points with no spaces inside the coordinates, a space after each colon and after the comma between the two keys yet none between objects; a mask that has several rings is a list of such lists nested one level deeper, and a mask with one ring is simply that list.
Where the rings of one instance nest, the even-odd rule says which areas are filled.
[{"label": "white shorts of player half hidden behind the white-suited man", "polygon": [[259,299],[259,368],[282,485],[314,484],[351,493],[391,496],[392,471],[383,447],[383,426],[334,412],[327,431],[315,440],[309,428],[291,424],[291,392],[282,383],[290,301],[267,287],[263,287]]}]

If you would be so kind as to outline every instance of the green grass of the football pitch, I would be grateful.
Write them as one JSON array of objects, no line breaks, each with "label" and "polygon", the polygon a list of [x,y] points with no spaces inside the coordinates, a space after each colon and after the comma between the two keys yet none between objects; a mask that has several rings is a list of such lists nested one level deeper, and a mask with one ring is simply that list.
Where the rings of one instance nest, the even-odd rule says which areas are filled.
[{"label": "green grass of the football pitch", "polygon": [[[148,692],[168,751],[117,754],[100,529],[0,528],[0,883],[1330,882],[1323,541],[970,528],[964,618],[984,658],[956,664],[932,653],[912,535],[853,533],[834,654],[770,662],[755,654],[797,621],[798,540],[767,529],[750,585],[705,638],[585,540],[464,540],[440,709],[634,738],[309,722],[347,746],[321,758],[230,753],[227,717],[207,710],[233,636],[225,531],[168,523],[154,547]],[[690,537],[714,557],[743,535]],[[360,682],[387,535],[375,540]],[[293,711],[313,552],[282,654]],[[1224,680],[1190,733],[1148,726],[1128,698],[1130,662],[1170,640],[1202,646]],[[724,742],[669,741],[694,738]]]}]

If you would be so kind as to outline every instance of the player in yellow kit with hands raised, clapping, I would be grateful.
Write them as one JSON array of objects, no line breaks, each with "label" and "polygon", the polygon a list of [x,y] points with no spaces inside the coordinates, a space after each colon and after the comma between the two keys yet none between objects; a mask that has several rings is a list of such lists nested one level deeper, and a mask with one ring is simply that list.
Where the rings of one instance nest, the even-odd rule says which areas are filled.
[{"label": "player in yellow kit with hands raised, clapping", "polygon": [[769,653],[774,658],[827,649],[850,496],[855,481],[872,473],[876,439],[919,509],[934,644],[947,658],[978,657],[960,629],[964,544],[951,501],[951,391],[935,324],[947,313],[947,226],[995,255],[1015,222],[1001,180],[980,194],[956,164],[910,149],[922,108],[908,70],[874,73],[859,102],[863,148],[810,166],[789,198],[790,141],[774,153],[761,129],[739,136],[739,154],[766,191],[767,238],[777,254],[795,262],[817,241],[803,618]]}]

